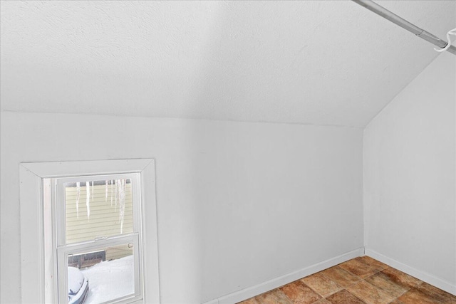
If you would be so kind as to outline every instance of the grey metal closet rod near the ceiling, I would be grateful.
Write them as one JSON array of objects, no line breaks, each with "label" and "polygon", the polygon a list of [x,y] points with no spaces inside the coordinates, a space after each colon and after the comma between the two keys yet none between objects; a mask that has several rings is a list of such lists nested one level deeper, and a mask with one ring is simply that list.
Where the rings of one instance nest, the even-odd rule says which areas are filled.
[{"label": "grey metal closet rod near the ceiling", "polygon": [[[434,44],[435,46],[438,46],[439,48],[445,48],[445,46],[447,46],[448,44],[447,41],[443,41],[442,39],[432,35],[432,33],[423,30],[423,28],[419,28],[418,26],[415,26],[415,24],[410,23],[403,18],[400,18],[400,16],[394,14],[391,11],[388,11],[388,9],[385,9],[383,6],[380,6],[371,0],[352,1],[354,1],[356,4],[365,7],[369,11],[373,11],[375,14],[378,14],[379,16],[382,16],[383,18],[397,24],[401,28],[405,28],[407,31],[414,33],[416,36],[424,39],[425,41],[429,41],[430,43]],[[447,48],[447,51],[456,55],[455,46],[450,46],[449,48]]]}]

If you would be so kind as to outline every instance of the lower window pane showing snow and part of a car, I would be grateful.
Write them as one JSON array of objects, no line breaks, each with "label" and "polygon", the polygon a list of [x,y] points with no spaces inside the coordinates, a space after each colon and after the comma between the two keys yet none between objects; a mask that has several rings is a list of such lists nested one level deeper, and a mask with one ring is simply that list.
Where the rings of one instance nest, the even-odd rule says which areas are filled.
[{"label": "lower window pane showing snow and part of a car", "polygon": [[104,303],[135,293],[133,243],[68,255],[68,303]]}]

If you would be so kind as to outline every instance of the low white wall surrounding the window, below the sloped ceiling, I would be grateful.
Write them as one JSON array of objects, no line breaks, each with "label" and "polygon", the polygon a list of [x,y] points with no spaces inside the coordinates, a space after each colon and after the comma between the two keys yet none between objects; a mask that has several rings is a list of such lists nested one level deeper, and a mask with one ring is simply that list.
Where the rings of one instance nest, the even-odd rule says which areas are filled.
[{"label": "low white wall surrounding the window, below the sloped ceiling", "polygon": [[361,129],[2,112],[1,303],[21,295],[19,163],[139,157],[156,159],[162,303],[363,246]]}]

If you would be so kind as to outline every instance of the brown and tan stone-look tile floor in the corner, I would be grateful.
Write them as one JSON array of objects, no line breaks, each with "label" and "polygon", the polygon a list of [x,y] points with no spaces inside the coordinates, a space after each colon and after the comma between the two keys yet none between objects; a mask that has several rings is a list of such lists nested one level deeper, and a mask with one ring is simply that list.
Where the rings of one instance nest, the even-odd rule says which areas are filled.
[{"label": "brown and tan stone-look tile floor in the corner", "polygon": [[368,256],[239,304],[456,304],[456,296]]}]

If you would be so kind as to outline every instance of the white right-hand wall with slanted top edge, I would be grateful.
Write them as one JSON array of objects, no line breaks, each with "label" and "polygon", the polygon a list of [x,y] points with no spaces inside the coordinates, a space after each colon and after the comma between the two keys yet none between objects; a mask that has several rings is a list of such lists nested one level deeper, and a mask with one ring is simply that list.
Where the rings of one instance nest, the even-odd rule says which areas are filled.
[{"label": "white right-hand wall with slanted top edge", "polygon": [[366,254],[456,293],[455,56],[443,53],[364,130]]}]

